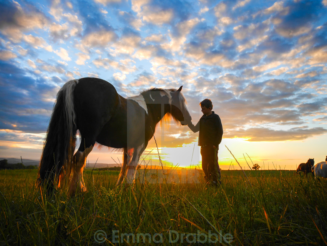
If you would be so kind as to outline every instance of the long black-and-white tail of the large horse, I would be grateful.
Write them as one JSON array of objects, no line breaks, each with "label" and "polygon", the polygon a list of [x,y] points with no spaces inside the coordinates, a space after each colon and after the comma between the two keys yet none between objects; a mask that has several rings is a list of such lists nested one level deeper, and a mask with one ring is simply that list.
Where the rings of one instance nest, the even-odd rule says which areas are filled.
[{"label": "long black-and-white tail of the large horse", "polygon": [[77,83],[78,80],[68,81],[59,90],[47,129],[37,180],[47,194],[58,187],[63,169],[70,174],[76,146],[73,93]]}]

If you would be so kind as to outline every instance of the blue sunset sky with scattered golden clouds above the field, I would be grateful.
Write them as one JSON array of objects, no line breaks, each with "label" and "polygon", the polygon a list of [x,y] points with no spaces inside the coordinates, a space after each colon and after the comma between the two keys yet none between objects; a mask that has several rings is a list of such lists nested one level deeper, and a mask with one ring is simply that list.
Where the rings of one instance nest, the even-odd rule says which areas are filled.
[{"label": "blue sunset sky with scattered golden clouds above the field", "polygon": [[[56,94],[97,77],[123,97],[179,88],[196,124],[209,98],[222,169],[296,169],[327,155],[327,0],[0,0],[0,157],[40,159]],[[199,165],[198,133],[157,127],[155,164]],[[225,147],[228,147],[228,149]],[[97,149],[88,162],[121,162]],[[248,168],[248,167],[247,167]]]}]

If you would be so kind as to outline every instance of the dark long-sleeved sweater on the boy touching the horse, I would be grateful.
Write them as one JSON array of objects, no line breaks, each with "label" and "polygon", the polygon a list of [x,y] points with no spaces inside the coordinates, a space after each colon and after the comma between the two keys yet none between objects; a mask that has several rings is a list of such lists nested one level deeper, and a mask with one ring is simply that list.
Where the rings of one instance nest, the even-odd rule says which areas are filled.
[{"label": "dark long-sleeved sweater on the boy touching the horse", "polygon": [[196,125],[188,124],[193,132],[199,132],[199,146],[215,145],[218,147],[223,137],[223,126],[220,118],[214,111],[211,115],[203,115]]}]

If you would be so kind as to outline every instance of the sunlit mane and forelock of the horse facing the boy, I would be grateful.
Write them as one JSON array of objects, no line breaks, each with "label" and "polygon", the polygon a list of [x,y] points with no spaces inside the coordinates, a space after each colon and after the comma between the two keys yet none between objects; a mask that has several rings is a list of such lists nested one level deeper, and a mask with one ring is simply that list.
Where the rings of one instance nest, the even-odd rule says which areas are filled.
[{"label": "sunlit mane and forelock of the horse facing the boy", "polygon": [[[176,89],[163,89],[163,88],[152,87],[152,88],[149,88],[147,90],[142,91],[140,94],[143,94],[144,92],[152,92],[152,91],[158,91],[158,92],[160,92],[161,96],[167,96],[168,97],[168,103],[171,105],[171,103],[172,103],[171,93],[175,92]],[[183,106],[182,102],[184,102],[186,104],[186,99],[185,99],[184,95],[181,92],[179,93],[179,97],[180,97],[179,98],[180,99],[179,100],[180,101],[180,108],[182,108],[182,106]],[[169,129],[171,120],[173,120],[176,124],[181,125],[179,120],[177,120],[170,112],[167,112],[163,116],[163,118],[160,120],[160,127],[164,127],[165,129]]]}]

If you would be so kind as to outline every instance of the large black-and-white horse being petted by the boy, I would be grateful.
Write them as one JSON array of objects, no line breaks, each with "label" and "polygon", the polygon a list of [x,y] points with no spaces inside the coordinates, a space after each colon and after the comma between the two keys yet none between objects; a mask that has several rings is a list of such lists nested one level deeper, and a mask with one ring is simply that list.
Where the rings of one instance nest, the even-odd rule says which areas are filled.
[{"label": "large black-and-white horse being petted by the boy", "polygon": [[[112,84],[99,78],[66,82],[57,94],[47,128],[38,170],[39,187],[52,194],[65,181],[68,196],[85,192],[83,170],[95,144],[122,151],[116,185],[131,180],[159,122],[191,122],[181,89],[150,88],[124,98]],[[77,132],[81,143],[74,154]]]}]

